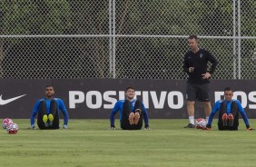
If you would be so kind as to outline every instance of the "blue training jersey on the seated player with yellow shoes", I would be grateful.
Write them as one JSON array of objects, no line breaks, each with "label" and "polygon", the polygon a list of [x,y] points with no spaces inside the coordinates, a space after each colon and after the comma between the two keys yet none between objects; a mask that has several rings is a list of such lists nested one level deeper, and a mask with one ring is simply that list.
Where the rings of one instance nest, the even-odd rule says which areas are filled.
[{"label": "blue training jersey on the seated player with yellow shoes", "polygon": [[[64,101],[61,100],[60,98],[54,98],[54,100],[57,103],[57,107],[58,107],[58,111],[57,112],[60,113],[60,110],[62,111],[62,113],[64,114],[64,124],[67,125],[67,123],[68,123],[68,113],[66,111],[66,108],[65,108],[65,105],[64,105]],[[34,124],[34,118],[35,118],[36,114],[39,112],[38,109],[39,109],[39,104],[40,104],[41,101],[45,101],[45,103],[46,103],[46,113],[47,114],[50,113],[51,100],[47,100],[46,98],[38,100],[35,103],[33,112],[31,114],[31,118],[30,118],[31,125]]]}]

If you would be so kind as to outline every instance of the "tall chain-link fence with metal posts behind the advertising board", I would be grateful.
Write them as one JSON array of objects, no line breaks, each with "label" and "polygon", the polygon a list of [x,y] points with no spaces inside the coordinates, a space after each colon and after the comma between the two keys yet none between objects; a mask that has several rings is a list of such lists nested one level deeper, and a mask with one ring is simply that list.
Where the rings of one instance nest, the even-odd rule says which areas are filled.
[{"label": "tall chain-link fence with metal posts behind the advertising board", "polygon": [[251,0],[2,0],[0,78],[185,79],[189,34],[213,79],[255,79]]}]

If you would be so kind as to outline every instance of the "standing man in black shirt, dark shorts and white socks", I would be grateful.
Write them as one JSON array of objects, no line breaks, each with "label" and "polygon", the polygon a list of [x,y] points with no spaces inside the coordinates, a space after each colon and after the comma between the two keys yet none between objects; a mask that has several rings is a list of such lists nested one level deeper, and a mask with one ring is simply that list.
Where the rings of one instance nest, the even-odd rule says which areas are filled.
[{"label": "standing man in black shirt, dark shorts and white socks", "polygon": [[[210,101],[210,78],[218,64],[217,60],[205,49],[199,48],[196,35],[189,36],[191,51],[184,55],[183,71],[189,75],[186,86],[187,112],[189,124],[184,128],[194,128],[194,104],[196,100],[203,102],[206,122],[212,111]],[[207,71],[208,63],[210,71]]]}]

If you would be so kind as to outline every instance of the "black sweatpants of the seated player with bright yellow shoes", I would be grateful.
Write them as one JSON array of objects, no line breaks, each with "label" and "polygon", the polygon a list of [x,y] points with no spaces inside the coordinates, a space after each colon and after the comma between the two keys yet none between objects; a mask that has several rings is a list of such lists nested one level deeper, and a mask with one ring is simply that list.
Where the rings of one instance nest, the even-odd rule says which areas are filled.
[{"label": "black sweatpants of the seated player with bright yellow shoes", "polygon": [[[39,111],[37,116],[37,125],[39,129],[60,129],[59,127],[59,113],[58,113],[58,107],[56,101],[52,100],[50,104],[50,113],[54,115],[54,121],[52,126],[45,127],[43,122],[43,116],[44,114],[47,114],[46,112],[46,103],[45,101],[41,101],[39,104]],[[49,113],[49,114],[50,114]],[[49,123],[49,120],[48,120]]]}]

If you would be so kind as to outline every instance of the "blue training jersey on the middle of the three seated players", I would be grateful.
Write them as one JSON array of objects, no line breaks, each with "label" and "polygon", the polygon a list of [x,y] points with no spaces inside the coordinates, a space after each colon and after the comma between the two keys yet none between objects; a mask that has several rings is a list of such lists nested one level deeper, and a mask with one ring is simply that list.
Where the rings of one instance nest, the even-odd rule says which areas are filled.
[{"label": "blue training jersey on the middle of the three seated players", "polygon": [[[120,119],[120,123],[122,122],[122,113],[123,113],[123,103],[125,102],[125,100],[120,100],[117,101],[114,104],[113,110],[110,113],[110,123],[113,125],[114,124],[114,115],[117,112],[119,113],[119,119]],[[133,99],[133,101],[131,102],[131,107],[132,107],[132,111],[134,111],[134,105],[135,105],[136,99]],[[142,103],[143,104],[143,103]],[[149,116],[148,113],[145,109],[145,106],[143,104],[143,119],[144,119],[144,123],[146,126],[149,126]]]}]

